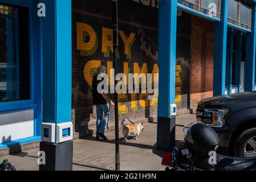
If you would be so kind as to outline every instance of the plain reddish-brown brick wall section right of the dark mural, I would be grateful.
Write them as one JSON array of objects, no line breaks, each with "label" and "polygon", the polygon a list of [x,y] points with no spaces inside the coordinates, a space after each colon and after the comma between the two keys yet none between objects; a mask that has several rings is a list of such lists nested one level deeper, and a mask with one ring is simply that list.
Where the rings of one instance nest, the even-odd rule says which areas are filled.
[{"label": "plain reddish-brown brick wall section right of the dark mural", "polygon": [[192,15],[190,108],[213,97],[214,23]]}]

